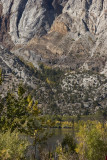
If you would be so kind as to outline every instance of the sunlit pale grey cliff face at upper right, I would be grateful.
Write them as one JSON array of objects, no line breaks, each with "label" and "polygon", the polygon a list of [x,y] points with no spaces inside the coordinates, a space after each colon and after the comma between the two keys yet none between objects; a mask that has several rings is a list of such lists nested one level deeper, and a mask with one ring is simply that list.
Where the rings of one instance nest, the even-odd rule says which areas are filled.
[{"label": "sunlit pale grey cliff face at upper right", "polygon": [[64,7],[63,13],[68,13],[74,20],[71,29],[74,27],[81,34],[86,31],[100,34],[107,29],[106,0],[71,0]]}]

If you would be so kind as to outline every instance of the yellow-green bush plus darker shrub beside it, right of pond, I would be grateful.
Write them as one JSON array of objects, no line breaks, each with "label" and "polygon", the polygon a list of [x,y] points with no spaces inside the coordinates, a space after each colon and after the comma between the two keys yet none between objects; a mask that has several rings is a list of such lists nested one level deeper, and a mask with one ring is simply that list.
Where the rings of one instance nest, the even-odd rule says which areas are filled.
[{"label": "yellow-green bush plus darker shrub beside it, right of pond", "polygon": [[59,160],[103,160],[107,154],[107,124],[79,121],[75,135],[66,135],[56,149]]}]

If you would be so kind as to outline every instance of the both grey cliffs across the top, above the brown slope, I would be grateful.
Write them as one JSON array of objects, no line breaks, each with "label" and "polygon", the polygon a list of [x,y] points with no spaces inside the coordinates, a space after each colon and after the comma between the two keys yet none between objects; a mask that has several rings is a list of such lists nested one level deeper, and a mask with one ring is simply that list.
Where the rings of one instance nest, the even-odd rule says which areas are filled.
[{"label": "both grey cliffs across the top, above the brown slope", "polygon": [[100,34],[107,29],[106,0],[1,0],[0,6],[15,44],[46,34],[57,16],[73,33]]}]

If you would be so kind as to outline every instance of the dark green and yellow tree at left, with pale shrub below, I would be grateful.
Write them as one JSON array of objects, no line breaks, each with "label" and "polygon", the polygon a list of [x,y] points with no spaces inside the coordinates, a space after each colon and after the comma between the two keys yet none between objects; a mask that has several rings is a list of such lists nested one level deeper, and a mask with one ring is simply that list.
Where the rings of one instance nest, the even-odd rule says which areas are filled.
[{"label": "dark green and yellow tree at left, with pale shrub below", "polygon": [[[9,92],[7,97],[1,98],[0,135],[2,138],[0,143],[3,144],[0,148],[0,156],[3,157],[6,154],[9,160],[13,160],[15,156],[16,159],[21,159],[21,155],[25,154],[28,142],[23,141],[23,139],[21,141],[19,137],[21,135],[31,136],[36,148],[38,143],[45,142],[50,137],[51,133],[48,133],[45,127],[48,128],[53,124],[54,122],[41,116],[38,101],[34,101],[33,97],[27,94],[20,84],[17,96]],[[12,137],[14,141],[12,141]],[[7,139],[10,141],[7,141]],[[17,143],[17,141],[20,141],[20,143]],[[14,146],[18,148],[17,153],[12,148]]]}]

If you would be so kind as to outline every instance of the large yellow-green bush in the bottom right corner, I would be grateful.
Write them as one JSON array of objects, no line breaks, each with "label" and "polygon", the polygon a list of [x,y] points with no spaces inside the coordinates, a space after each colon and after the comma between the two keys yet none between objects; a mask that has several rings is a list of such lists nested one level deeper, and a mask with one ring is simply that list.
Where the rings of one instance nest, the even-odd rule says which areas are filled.
[{"label": "large yellow-green bush in the bottom right corner", "polygon": [[[106,126],[105,126],[106,127]],[[87,121],[77,133],[76,152],[80,160],[103,160],[107,154],[106,128],[97,121]]]}]

